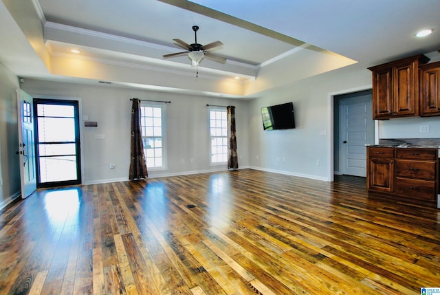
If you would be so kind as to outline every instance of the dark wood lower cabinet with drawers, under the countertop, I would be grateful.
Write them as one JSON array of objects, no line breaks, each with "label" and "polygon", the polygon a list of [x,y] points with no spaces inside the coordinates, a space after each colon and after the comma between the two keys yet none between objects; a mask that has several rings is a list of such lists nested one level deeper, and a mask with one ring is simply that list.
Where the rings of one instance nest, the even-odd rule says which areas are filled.
[{"label": "dark wood lower cabinet with drawers, under the countertop", "polygon": [[438,150],[423,148],[367,148],[367,189],[401,197],[436,201]]}]

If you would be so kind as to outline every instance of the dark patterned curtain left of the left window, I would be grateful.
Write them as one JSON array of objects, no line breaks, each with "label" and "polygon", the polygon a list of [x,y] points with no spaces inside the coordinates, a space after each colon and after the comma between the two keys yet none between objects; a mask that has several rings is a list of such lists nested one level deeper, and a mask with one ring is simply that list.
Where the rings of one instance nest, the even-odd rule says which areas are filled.
[{"label": "dark patterned curtain left of the left window", "polygon": [[148,177],[146,171],[144,144],[140,124],[140,101],[133,98],[131,107],[131,149],[129,179],[144,179]]}]

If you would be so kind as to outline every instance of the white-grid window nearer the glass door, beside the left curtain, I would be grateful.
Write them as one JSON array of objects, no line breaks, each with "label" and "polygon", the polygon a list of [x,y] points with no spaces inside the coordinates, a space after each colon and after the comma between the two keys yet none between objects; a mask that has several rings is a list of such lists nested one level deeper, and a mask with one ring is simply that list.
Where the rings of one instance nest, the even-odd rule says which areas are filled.
[{"label": "white-grid window nearer the glass door, beside the left curtain", "polygon": [[165,105],[142,102],[140,117],[146,168],[166,168],[164,142]]}]

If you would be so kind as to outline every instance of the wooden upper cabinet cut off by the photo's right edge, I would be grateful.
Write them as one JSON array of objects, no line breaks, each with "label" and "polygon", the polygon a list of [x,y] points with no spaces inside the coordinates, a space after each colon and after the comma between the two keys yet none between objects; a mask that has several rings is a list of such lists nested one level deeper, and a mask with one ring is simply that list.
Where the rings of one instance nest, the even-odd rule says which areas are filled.
[{"label": "wooden upper cabinet cut off by the photo's right edge", "polygon": [[440,61],[420,66],[420,116],[440,116]]}]

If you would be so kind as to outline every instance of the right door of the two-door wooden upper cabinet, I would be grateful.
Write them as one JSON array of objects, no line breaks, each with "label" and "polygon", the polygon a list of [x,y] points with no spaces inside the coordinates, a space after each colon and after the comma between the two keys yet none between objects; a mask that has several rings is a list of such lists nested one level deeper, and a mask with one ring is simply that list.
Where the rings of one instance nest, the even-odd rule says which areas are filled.
[{"label": "right door of the two-door wooden upper cabinet", "polygon": [[417,71],[415,61],[394,67],[393,116],[419,115],[419,106],[415,103],[418,96],[416,89],[419,85],[416,79]]}]

